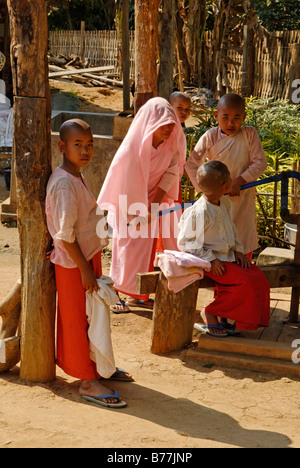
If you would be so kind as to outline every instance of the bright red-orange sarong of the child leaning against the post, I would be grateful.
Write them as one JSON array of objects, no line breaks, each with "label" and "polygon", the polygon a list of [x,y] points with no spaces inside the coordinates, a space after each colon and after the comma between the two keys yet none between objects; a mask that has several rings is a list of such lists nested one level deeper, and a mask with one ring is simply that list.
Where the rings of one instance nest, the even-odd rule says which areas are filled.
[{"label": "bright red-orange sarong of the child leaning against the post", "polygon": [[[97,278],[102,275],[101,251],[91,260]],[[78,268],[55,265],[57,288],[56,364],[68,375],[82,379],[100,376],[90,359],[85,289]]]}]

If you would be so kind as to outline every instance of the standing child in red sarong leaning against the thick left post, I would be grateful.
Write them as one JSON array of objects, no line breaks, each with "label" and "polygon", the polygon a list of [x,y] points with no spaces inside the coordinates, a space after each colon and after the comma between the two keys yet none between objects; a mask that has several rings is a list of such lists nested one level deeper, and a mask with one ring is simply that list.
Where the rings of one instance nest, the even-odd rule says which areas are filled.
[{"label": "standing child in red sarong leaning against the thick left post", "polygon": [[[123,407],[117,392],[99,381],[90,359],[86,291],[98,290],[102,275],[101,250],[107,238],[96,234],[97,203],[81,169],[94,153],[90,127],[81,120],[69,120],[60,129],[62,164],[47,185],[46,216],[54,249],[57,305],[57,365],[68,375],[82,380],[79,393],[103,406]],[[125,373],[124,379],[127,374]]]}]

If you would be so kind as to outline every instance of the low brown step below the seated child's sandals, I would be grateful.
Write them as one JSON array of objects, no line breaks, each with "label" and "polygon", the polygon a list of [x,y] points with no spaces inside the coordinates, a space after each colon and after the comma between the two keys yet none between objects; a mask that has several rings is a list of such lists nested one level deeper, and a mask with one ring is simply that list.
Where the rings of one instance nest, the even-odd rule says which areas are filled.
[{"label": "low brown step below the seated child's sandals", "polygon": [[255,372],[270,372],[285,377],[300,377],[300,364],[292,361],[296,349],[286,344],[247,338],[213,338],[201,335],[198,346],[186,352],[186,360],[206,365]]}]

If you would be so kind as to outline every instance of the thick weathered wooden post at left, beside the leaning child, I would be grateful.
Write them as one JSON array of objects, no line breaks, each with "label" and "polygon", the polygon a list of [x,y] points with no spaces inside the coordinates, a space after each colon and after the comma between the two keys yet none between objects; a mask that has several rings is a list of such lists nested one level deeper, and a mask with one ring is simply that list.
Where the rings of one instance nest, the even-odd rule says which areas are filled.
[{"label": "thick weathered wooden post at left, beside the leaning child", "polygon": [[44,0],[8,0],[14,87],[17,214],[21,247],[21,378],[55,378],[55,281],[46,258],[45,219],[51,174],[47,6]]}]

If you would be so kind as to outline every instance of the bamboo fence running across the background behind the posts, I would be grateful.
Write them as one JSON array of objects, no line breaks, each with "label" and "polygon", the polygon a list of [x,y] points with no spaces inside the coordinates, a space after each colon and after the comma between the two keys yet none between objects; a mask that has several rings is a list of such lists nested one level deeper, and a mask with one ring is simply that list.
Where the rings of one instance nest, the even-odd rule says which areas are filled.
[{"label": "bamboo fence running across the background behind the posts", "polygon": [[[80,56],[82,40],[84,55],[89,66],[115,67],[114,75],[121,78],[121,41],[117,31],[50,31],[49,52]],[[291,93],[295,69],[299,71],[300,31],[281,31],[255,39],[256,60],[254,67],[253,95],[261,98],[288,99]],[[213,76],[213,32],[207,31],[204,38],[203,73],[207,87],[215,88]],[[242,54],[229,51],[228,55],[240,65],[228,64],[228,78],[234,92],[240,93],[242,86]],[[130,31],[130,78],[134,79],[134,31]]]}]

